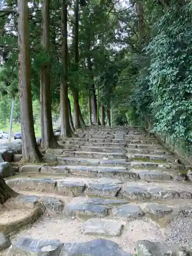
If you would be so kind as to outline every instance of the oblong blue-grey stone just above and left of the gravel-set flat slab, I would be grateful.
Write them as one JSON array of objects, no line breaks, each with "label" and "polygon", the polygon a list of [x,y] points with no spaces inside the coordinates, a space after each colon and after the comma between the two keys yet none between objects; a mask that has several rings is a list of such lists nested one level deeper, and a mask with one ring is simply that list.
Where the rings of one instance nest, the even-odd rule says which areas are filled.
[{"label": "oblong blue-grey stone just above and left of the gravel-set flat slab", "polygon": [[69,203],[64,208],[63,214],[66,216],[105,217],[108,215],[108,209],[102,205]]}]

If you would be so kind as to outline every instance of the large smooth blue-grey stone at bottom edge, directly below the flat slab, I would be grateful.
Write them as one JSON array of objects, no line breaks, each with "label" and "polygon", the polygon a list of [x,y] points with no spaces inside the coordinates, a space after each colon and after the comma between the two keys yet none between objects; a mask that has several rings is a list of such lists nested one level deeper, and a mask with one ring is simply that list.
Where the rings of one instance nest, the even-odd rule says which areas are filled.
[{"label": "large smooth blue-grey stone at bottom edge, directly below the flat slab", "polygon": [[95,239],[84,243],[65,243],[60,256],[133,256],[110,240]]}]

